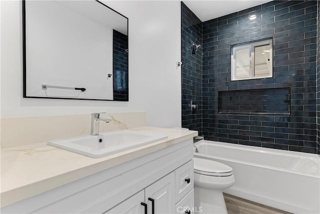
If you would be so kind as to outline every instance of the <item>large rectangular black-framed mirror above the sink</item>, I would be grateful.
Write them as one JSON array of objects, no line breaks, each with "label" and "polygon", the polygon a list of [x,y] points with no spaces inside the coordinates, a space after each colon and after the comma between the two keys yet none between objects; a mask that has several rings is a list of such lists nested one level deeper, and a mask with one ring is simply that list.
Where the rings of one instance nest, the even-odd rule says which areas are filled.
[{"label": "large rectangular black-framed mirror above the sink", "polygon": [[101,2],[22,1],[23,97],[128,101],[128,19]]}]

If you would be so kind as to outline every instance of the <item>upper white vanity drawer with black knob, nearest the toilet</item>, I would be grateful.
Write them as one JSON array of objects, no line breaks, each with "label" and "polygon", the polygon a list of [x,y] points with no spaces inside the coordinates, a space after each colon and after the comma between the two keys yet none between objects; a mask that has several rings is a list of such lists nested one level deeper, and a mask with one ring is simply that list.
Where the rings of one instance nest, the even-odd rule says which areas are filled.
[{"label": "upper white vanity drawer with black knob, nearest the toilet", "polygon": [[185,163],[174,171],[175,203],[193,188],[193,160]]}]

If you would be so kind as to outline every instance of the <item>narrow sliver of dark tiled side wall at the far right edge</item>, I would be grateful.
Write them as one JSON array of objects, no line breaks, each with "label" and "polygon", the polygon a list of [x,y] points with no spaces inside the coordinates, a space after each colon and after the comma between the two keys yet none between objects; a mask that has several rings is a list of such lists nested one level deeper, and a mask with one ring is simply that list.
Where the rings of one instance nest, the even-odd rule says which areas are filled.
[{"label": "narrow sliver of dark tiled side wall at the far right edge", "polygon": [[317,57],[316,57],[316,130],[317,130],[317,153],[320,154],[320,1],[317,2]]}]

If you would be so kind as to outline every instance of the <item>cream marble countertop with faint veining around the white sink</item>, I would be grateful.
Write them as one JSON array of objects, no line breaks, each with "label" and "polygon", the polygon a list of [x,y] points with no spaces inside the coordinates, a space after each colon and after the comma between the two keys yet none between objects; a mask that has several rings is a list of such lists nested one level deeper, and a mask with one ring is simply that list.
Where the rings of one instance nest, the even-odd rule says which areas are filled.
[{"label": "cream marble countertop with faint veining around the white sink", "polygon": [[101,158],[86,157],[46,142],[1,149],[1,207],[197,135],[197,131],[155,127],[129,130],[165,134],[168,138]]}]

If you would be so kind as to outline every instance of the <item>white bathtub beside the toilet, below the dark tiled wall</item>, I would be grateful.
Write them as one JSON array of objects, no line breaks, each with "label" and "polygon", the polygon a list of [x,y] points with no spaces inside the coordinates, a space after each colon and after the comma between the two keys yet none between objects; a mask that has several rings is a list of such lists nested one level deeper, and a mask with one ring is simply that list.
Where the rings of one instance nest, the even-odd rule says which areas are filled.
[{"label": "white bathtub beside the toilet, below the dark tiled wall", "polygon": [[201,140],[194,157],[233,168],[224,192],[293,213],[320,213],[320,158],[316,154]]}]

